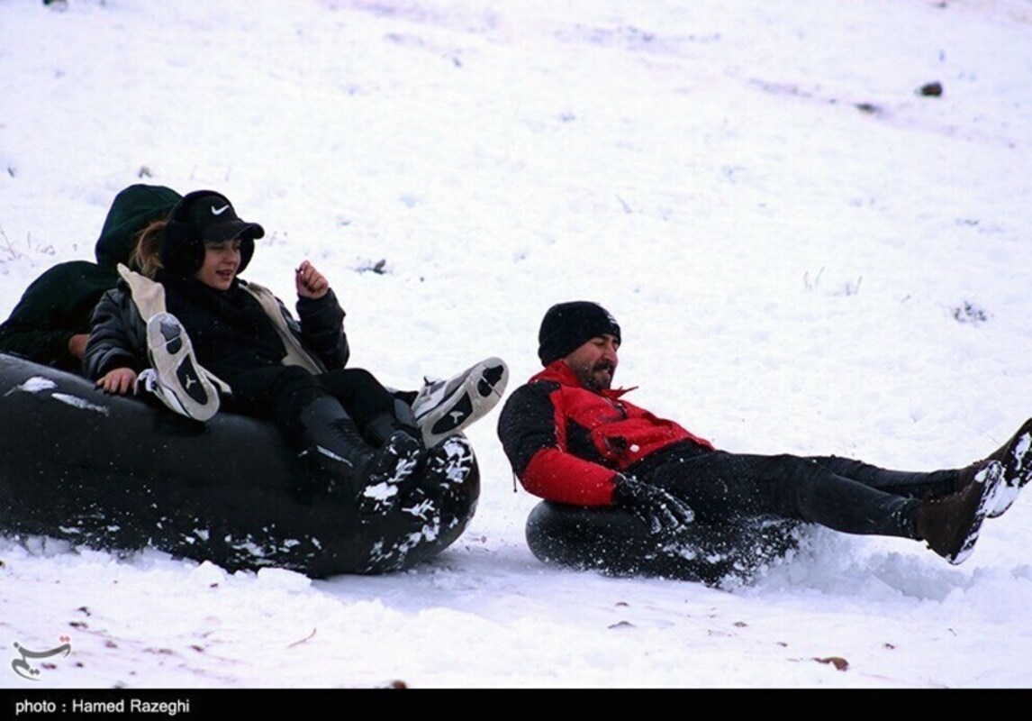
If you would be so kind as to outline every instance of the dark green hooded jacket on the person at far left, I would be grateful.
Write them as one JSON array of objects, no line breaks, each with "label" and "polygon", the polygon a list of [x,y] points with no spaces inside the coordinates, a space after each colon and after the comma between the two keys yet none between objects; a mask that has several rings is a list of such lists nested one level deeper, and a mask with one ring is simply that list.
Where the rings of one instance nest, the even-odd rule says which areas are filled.
[{"label": "dark green hooded jacket on the person at far left", "polygon": [[97,262],[59,263],[33,281],[0,324],[0,352],[80,372],[82,360],[68,351],[68,341],[90,333],[93,309],[118,283],[117,265],[128,264],[136,233],[168,215],[180,197],[161,185],[131,185],[116,195],[97,240]]}]

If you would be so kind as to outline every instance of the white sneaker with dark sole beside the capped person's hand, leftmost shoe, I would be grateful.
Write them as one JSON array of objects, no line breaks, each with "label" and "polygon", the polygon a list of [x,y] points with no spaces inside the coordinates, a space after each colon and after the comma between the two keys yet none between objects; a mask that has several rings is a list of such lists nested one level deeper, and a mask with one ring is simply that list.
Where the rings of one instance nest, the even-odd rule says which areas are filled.
[{"label": "white sneaker with dark sole beside the capped person's hand, leftmost shoe", "polygon": [[171,313],[156,313],[147,321],[147,354],[151,368],[137,383],[171,410],[195,420],[207,420],[219,410],[219,394],[200,370],[190,337]]}]

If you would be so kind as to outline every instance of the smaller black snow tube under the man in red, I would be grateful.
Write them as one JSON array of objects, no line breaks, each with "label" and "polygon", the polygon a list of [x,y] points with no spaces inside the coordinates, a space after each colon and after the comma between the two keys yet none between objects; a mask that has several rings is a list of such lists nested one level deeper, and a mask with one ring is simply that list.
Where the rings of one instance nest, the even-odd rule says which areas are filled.
[{"label": "smaller black snow tube under the man in red", "polygon": [[657,576],[716,586],[748,578],[799,544],[804,524],[749,518],[694,524],[676,542],[657,542],[638,518],[610,507],[542,501],[526,522],[530,553],[544,563],[607,575]]}]

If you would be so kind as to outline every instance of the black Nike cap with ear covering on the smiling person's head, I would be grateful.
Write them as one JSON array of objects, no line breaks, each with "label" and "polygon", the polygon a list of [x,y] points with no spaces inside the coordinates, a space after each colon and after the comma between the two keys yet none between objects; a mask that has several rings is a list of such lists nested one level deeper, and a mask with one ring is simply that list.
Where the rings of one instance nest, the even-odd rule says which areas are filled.
[{"label": "black Nike cap with ear covering on the smiling person's head", "polygon": [[255,239],[265,234],[258,223],[240,220],[232,203],[214,190],[187,193],[168,214],[161,238],[161,264],[172,273],[192,276],[204,262],[204,241],[240,240],[237,275],[255,254]]}]

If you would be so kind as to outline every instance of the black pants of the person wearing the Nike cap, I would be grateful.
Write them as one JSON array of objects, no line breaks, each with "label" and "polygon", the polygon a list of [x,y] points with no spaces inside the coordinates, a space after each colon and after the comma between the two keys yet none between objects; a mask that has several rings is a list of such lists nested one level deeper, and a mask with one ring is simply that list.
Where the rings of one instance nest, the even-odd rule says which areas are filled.
[{"label": "black pants of the person wearing the Nike cap", "polygon": [[271,420],[293,448],[304,445],[301,410],[322,396],[335,398],[359,430],[377,416],[394,412],[394,397],[360,368],[313,375],[297,366],[269,366],[238,373],[228,382],[232,394],[225,397],[223,407]]}]

